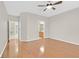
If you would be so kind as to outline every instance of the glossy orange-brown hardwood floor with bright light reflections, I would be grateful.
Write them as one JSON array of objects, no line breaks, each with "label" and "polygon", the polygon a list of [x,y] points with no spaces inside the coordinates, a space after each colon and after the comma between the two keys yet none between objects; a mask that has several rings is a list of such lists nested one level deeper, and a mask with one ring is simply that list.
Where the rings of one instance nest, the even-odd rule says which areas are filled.
[{"label": "glossy orange-brown hardwood floor with bright light reflections", "polygon": [[19,42],[11,40],[2,57],[3,58],[77,58],[79,45],[66,43],[54,39]]}]

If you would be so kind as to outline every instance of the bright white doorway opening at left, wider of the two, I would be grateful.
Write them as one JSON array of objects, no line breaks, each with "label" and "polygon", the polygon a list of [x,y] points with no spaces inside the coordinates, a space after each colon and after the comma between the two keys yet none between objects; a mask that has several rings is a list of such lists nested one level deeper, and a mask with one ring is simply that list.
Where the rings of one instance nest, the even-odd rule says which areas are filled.
[{"label": "bright white doorway opening at left, wider of the two", "polygon": [[9,21],[9,40],[18,39],[19,35],[18,27],[19,27],[18,21],[13,20]]}]

